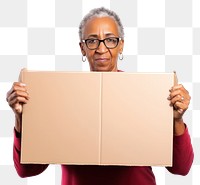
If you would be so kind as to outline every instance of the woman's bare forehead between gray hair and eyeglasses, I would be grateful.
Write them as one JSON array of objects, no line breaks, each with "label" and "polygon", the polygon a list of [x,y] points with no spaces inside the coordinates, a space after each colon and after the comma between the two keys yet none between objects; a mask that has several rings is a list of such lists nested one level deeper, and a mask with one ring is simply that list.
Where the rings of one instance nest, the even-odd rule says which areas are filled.
[{"label": "woman's bare forehead between gray hair and eyeglasses", "polygon": [[83,37],[88,37],[90,35],[101,36],[102,34],[119,35],[117,23],[113,18],[94,17],[86,22],[83,30]]}]

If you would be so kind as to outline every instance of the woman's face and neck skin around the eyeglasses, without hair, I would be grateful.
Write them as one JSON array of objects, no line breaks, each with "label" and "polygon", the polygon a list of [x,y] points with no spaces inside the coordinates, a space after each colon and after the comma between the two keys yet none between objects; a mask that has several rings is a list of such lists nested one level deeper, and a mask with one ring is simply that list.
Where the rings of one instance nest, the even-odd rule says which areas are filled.
[{"label": "woman's face and neck skin around the eyeglasses, without hair", "polygon": [[[83,40],[119,37],[118,27],[114,19],[110,17],[93,18],[89,20],[83,30]],[[117,71],[117,60],[119,53],[123,51],[123,40],[120,40],[117,47],[108,49],[103,42],[94,50],[87,48],[81,42],[81,52],[87,57],[91,71]]]}]

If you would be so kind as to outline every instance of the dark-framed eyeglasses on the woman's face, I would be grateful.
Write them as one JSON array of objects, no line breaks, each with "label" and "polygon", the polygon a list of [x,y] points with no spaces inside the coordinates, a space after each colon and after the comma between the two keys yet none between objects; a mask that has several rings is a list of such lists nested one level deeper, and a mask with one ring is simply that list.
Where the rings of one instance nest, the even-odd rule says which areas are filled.
[{"label": "dark-framed eyeglasses on the woman's face", "polygon": [[118,37],[109,37],[109,38],[105,38],[103,40],[99,40],[99,39],[86,39],[86,40],[82,40],[82,42],[84,42],[86,44],[86,46],[88,47],[88,49],[97,49],[100,45],[101,42],[104,43],[104,45],[108,48],[108,49],[114,49],[117,47],[119,40],[121,40],[121,38]]}]

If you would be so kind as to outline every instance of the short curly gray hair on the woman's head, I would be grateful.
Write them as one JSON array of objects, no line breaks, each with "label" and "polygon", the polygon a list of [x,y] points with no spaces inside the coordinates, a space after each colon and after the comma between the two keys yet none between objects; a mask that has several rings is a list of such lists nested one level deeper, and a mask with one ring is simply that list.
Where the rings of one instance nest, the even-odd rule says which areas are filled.
[{"label": "short curly gray hair on the woman's head", "polygon": [[101,8],[92,9],[88,14],[85,15],[85,17],[81,21],[81,23],[79,25],[80,40],[82,40],[82,37],[83,37],[83,30],[85,28],[85,24],[87,23],[87,21],[89,21],[90,19],[92,19],[94,17],[111,17],[111,18],[113,18],[118,25],[119,36],[122,39],[124,39],[124,27],[121,23],[119,16],[114,11],[106,9],[104,7],[101,7]]}]

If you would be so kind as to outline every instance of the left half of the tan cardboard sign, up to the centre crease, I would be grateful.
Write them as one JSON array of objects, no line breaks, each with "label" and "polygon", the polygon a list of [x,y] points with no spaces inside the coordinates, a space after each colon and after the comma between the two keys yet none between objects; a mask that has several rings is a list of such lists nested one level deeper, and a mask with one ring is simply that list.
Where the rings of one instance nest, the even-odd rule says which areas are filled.
[{"label": "left half of the tan cardboard sign, up to the centre crease", "polygon": [[22,72],[24,163],[99,161],[100,74]]}]

